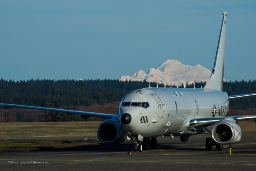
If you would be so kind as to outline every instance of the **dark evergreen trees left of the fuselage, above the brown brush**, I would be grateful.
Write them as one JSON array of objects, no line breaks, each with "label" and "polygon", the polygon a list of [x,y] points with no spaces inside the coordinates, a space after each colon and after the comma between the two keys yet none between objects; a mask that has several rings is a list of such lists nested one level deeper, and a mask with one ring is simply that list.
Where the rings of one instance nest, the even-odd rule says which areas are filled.
[{"label": "dark evergreen trees left of the fuselage, above the brown brush", "polygon": [[[147,82],[119,80],[0,80],[0,102],[44,107],[90,106],[120,101],[127,93]],[[156,86],[156,85],[154,85]]]}]

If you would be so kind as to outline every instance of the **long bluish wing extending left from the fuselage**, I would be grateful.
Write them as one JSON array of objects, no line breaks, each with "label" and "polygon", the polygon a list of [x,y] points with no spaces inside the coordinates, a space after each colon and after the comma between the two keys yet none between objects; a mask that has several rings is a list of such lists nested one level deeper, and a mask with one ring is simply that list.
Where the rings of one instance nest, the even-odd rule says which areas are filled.
[{"label": "long bluish wing extending left from the fuselage", "polygon": [[109,119],[112,118],[112,117],[118,116],[117,114],[83,112],[83,111],[77,111],[77,110],[56,109],[56,108],[26,106],[26,105],[15,105],[15,104],[7,104],[7,103],[0,103],[0,105],[2,105],[2,106],[10,106],[10,107],[21,107],[21,108],[38,109],[38,110],[47,110],[47,111],[54,111],[54,112],[72,113],[72,114],[79,114],[79,115],[86,115],[86,116],[97,116],[97,117],[103,117],[103,118],[109,118]]}]

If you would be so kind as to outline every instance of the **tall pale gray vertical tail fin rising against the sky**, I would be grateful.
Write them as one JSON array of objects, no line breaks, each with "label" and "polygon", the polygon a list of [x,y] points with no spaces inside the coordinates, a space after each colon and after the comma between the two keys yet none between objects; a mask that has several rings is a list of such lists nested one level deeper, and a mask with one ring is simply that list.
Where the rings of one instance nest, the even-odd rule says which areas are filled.
[{"label": "tall pale gray vertical tail fin rising against the sky", "polygon": [[218,47],[215,56],[214,68],[210,80],[204,86],[205,89],[223,90],[223,72],[224,72],[224,52],[225,52],[225,34],[226,34],[227,12],[223,12],[221,32]]}]

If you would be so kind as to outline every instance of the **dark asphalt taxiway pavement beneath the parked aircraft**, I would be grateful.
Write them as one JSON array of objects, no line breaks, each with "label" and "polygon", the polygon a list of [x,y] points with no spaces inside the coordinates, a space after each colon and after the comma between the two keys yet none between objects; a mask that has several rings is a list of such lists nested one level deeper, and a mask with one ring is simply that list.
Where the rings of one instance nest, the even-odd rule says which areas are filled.
[{"label": "dark asphalt taxiway pavement beneath the parked aircraft", "polygon": [[208,136],[197,135],[186,143],[158,137],[158,149],[142,152],[133,152],[132,142],[109,145],[88,137],[89,142],[99,145],[1,152],[0,170],[256,170],[256,134],[243,134],[241,142],[232,145],[232,154],[228,145],[222,151],[206,151]]}]

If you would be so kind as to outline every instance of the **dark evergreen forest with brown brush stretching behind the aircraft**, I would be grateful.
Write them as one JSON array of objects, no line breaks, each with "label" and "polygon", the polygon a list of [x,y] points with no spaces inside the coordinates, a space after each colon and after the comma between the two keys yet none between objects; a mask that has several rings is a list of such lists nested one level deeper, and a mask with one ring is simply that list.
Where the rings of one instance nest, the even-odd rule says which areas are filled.
[{"label": "dark evergreen forest with brown brush stretching behind the aircraft", "polygon": [[[205,82],[196,83],[201,88]],[[151,83],[151,87],[156,87]],[[81,111],[118,114],[122,98],[129,92],[149,87],[149,83],[119,80],[0,80],[0,103],[22,104],[41,107],[54,107]],[[164,87],[158,85],[158,87]],[[177,87],[177,86],[168,86]],[[181,85],[184,87],[184,85]],[[194,88],[194,84],[186,85]],[[224,91],[228,95],[256,92],[256,80],[224,82]],[[256,98],[244,98],[230,101],[230,113],[250,114],[256,108]],[[243,112],[243,111],[250,111]],[[46,112],[31,109],[0,106],[0,121],[38,122],[38,121],[87,121],[79,115]],[[89,120],[101,120],[90,118]]]}]

